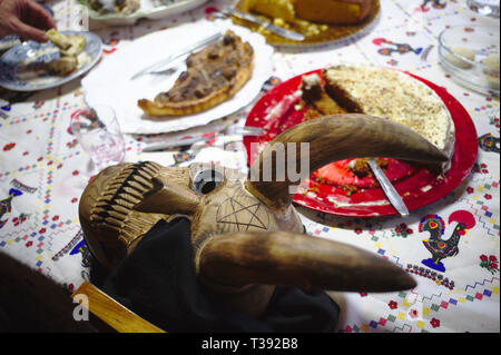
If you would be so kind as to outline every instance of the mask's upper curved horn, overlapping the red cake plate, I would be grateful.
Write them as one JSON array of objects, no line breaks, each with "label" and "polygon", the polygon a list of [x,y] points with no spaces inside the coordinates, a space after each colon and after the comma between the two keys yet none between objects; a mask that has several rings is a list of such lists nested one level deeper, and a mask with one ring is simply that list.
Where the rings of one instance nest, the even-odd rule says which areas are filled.
[{"label": "mask's upper curved horn, overlapping the red cake plate", "polygon": [[[308,142],[310,150],[299,149],[301,142]],[[291,151],[291,146],[295,152]],[[277,159],[276,152],[281,149],[285,152],[284,161]],[[310,157],[305,157],[305,154],[310,154]],[[422,162],[448,159],[419,134],[387,119],[363,114],[324,116],[294,126],[277,136],[250,166],[247,190],[269,209],[285,211],[294,196],[289,194],[289,188],[301,184],[301,180],[289,179],[287,165],[295,164],[292,170],[296,172],[302,155],[303,159],[310,161],[308,174],[332,161],[347,158],[387,157]],[[266,171],[267,167],[272,171]],[[264,172],[271,172],[272,178],[263,178]],[[277,177],[283,177],[282,181]]]}]

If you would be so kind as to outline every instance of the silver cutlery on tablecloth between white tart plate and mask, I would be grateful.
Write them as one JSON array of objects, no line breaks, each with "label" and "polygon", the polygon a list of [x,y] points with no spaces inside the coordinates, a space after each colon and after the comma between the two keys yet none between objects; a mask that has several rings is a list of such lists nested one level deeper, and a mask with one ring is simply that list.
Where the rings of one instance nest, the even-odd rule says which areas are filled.
[{"label": "silver cutlery on tablecloth between white tart plate and mask", "polygon": [[181,137],[167,141],[154,141],[147,144],[143,151],[156,151],[174,147],[183,147],[196,144],[198,141],[209,140],[215,138],[217,135],[242,135],[242,136],[263,136],[264,130],[259,127],[227,127],[218,132],[212,132],[204,136],[197,137]]}]

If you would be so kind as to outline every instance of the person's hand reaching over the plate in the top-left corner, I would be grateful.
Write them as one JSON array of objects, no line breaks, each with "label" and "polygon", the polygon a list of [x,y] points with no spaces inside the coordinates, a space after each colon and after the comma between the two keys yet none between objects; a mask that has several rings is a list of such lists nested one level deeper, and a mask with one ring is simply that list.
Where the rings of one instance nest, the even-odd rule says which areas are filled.
[{"label": "person's hand reaching over the plate in the top-left corner", "polygon": [[0,38],[18,34],[47,42],[45,32],[51,28],[56,28],[52,17],[33,0],[0,0]]}]

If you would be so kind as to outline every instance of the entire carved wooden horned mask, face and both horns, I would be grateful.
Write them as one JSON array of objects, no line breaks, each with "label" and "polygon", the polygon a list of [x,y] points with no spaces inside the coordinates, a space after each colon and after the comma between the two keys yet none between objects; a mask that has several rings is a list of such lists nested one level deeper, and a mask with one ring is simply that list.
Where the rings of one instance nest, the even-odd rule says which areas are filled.
[{"label": "entire carved wooden horned mask, face and both horns", "polygon": [[[273,147],[287,147],[289,142],[310,144],[312,172],[352,157],[428,162],[445,159],[404,126],[366,115],[336,115],[303,122],[279,135],[253,164],[249,176],[263,176],[267,162],[283,166],[276,164]],[[296,166],[299,155],[297,150]],[[272,176],[281,176],[274,169]],[[214,166],[121,164],[101,171],[86,188],[80,223],[90,250],[109,269],[127,257],[160,218],[184,215],[191,220],[198,276],[213,286],[242,289],[261,284],[390,292],[415,285],[400,268],[371,253],[303,235],[289,194],[289,187],[299,183],[287,177],[284,181],[252,180]]]}]

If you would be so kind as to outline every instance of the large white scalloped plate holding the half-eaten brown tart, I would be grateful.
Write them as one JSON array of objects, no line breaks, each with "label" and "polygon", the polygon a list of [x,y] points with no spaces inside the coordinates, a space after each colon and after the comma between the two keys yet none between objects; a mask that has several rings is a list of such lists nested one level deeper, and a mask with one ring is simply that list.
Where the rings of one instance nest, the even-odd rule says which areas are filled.
[{"label": "large white scalloped plate holding the half-eaten brown tart", "polygon": [[[254,49],[254,69],[247,83],[230,99],[199,114],[150,120],[137,106],[139,99],[153,100],[161,91],[168,91],[179,73],[186,69],[184,61],[171,76],[146,75],[135,80],[130,77],[147,66],[165,59],[176,50],[208,37],[216,31],[232,29]],[[141,37],[124,48],[119,48],[82,79],[85,98],[89,106],[106,103],[111,106],[127,134],[159,134],[202,126],[228,116],[249,105],[261,92],[263,83],[273,72],[273,47],[266,45],[263,36],[246,28],[233,26],[229,21],[202,21]]]}]

